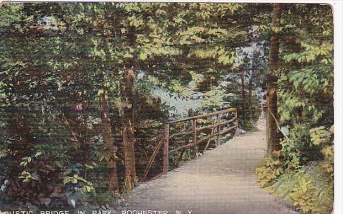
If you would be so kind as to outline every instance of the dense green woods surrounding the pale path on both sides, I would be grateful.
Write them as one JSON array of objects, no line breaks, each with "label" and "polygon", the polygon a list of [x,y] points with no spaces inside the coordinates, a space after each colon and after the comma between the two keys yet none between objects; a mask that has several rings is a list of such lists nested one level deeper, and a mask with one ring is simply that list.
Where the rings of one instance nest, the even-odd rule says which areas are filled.
[{"label": "dense green woods surrounding the pale path on both sides", "polygon": [[[4,3],[0,34],[0,199],[112,203],[145,178],[165,122],[237,108],[244,130],[266,115],[260,184],[303,212],[332,210],[330,7]],[[203,149],[171,155],[170,167]]]}]

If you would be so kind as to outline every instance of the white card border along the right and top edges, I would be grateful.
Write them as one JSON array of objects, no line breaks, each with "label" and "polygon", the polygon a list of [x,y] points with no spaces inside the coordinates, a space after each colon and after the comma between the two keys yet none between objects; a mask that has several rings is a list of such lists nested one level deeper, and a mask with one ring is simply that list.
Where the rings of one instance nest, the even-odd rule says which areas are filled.
[{"label": "white card border along the right and top edges", "polygon": [[200,2],[200,3],[314,3],[327,4],[333,9],[334,17],[334,213],[343,213],[343,1],[341,0],[0,0],[3,2]]}]

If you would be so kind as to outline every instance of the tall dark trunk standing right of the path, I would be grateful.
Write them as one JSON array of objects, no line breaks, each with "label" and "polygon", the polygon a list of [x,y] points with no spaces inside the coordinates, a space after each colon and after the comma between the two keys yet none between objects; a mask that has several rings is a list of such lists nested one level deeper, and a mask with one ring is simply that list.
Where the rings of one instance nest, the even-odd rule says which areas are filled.
[{"label": "tall dark trunk standing right of the path", "polygon": [[[275,4],[273,9],[272,26],[280,26],[281,19],[281,4]],[[280,149],[277,127],[278,114],[278,77],[276,70],[279,64],[279,35],[272,33],[270,49],[269,49],[269,72],[267,75],[267,145],[268,156],[272,155],[273,151]]]}]

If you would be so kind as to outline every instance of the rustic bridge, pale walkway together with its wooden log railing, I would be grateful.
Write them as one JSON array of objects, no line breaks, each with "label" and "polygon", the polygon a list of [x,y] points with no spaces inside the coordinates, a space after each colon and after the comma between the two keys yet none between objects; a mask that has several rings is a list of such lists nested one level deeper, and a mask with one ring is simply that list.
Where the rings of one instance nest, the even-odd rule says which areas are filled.
[{"label": "rustic bridge, pale walkway together with its wooden log railing", "polygon": [[[197,122],[203,124],[203,118],[213,119],[214,123],[198,127]],[[169,132],[180,131],[175,129],[175,126],[185,121],[192,121],[192,131],[170,135]],[[230,130],[235,131],[237,124],[236,109],[166,122],[164,136],[149,162],[151,164],[156,152],[164,145],[163,175],[142,182],[136,187],[125,203],[117,207],[118,213],[125,210],[136,210],[137,213],[151,210],[156,213],[161,211],[159,213],[182,214],[296,213],[260,188],[257,183],[255,169],[266,154],[265,119],[262,118],[257,124],[259,130],[235,135],[221,144],[220,136]],[[190,124],[188,122],[183,125]],[[208,135],[201,138],[200,132],[205,128],[209,129]],[[190,135],[192,141],[174,142],[173,136],[181,134]],[[215,137],[217,141],[213,147],[216,148],[168,172],[168,159],[171,159],[168,156],[172,152],[190,148],[190,152],[195,154],[195,145],[203,143],[204,146],[205,142]]]}]

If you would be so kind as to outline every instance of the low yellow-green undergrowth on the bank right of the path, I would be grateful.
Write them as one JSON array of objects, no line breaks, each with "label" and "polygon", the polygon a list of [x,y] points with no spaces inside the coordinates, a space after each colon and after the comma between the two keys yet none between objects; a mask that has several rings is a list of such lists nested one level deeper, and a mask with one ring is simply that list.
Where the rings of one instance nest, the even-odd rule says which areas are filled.
[{"label": "low yellow-green undergrowth on the bank right of the path", "polygon": [[301,149],[299,136],[299,131],[294,130],[290,138],[281,142],[281,150],[264,158],[263,166],[256,169],[260,185],[301,213],[331,213],[334,200],[333,131],[323,126],[309,130],[307,147],[320,151],[315,157]]}]

